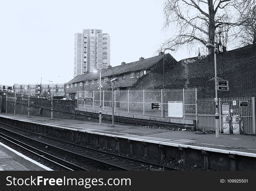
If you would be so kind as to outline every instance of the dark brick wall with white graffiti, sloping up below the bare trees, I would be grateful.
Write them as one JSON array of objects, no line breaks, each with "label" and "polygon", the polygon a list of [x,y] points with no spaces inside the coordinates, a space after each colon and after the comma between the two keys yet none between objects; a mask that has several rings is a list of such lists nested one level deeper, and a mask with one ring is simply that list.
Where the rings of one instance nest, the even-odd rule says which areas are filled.
[{"label": "dark brick wall with white graffiti, sloping up below the bare trees", "polygon": [[[217,76],[229,81],[229,91],[218,90],[218,97],[256,96],[256,44],[222,52],[216,56]],[[197,88],[198,97],[215,97],[214,55],[165,64],[166,88]],[[163,88],[163,67],[133,86],[134,89]]]}]

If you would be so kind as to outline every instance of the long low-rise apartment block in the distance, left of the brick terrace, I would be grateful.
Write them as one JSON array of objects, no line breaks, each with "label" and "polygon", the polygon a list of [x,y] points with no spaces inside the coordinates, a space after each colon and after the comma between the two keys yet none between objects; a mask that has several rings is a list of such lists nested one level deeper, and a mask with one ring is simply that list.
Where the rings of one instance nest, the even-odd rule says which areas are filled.
[{"label": "long low-rise apartment block in the distance, left of the brick terrace", "polygon": [[64,84],[14,84],[13,91],[20,94],[30,94],[30,96],[45,97],[52,96],[64,96]]}]

